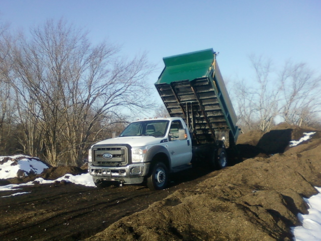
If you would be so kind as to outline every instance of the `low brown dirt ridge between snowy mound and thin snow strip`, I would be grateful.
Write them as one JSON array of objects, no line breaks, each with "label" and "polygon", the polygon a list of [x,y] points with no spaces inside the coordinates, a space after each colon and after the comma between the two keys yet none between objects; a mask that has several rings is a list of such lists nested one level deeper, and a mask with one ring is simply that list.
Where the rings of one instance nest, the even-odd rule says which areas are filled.
[{"label": "low brown dirt ridge between snowy mound and thin snow strip", "polygon": [[45,169],[41,174],[38,175],[29,175],[22,178],[8,178],[6,180],[0,180],[0,186],[8,185],[8,184],[21,184],[30,181],[34,181],[38,177],[42,177],[45,180],[55,180],[59,177],[64,176],[65,174],[72,174],[72,175],[80,175],[83,173],[87,173],[87,170],[83,170],[79,167],[74,166],[60,166],[60,167],[51,167]]}]

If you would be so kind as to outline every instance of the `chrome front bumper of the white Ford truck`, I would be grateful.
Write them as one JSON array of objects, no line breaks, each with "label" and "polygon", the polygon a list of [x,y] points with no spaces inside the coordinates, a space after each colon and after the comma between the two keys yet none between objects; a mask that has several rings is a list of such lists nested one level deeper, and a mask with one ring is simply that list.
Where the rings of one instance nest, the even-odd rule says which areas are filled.
[{"label": "chrome front bumper of the white Ford truck", "polygon": [[144,177],[148,175],[150,163],[135,163],[125,167],[102,167],[93,166],[89,163],[89,174],[94,179],[104,181],[118,181],[124,184],[139,184],[144,181]]}]

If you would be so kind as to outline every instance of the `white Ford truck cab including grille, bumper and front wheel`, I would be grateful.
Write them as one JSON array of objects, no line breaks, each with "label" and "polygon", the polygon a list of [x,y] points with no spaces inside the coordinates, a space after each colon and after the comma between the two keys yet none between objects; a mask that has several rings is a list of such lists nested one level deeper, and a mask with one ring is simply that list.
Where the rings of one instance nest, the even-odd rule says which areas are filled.
[{"label": "white Ford truck cab including grille, bumper and front wheel", "polygon": [[190,168],[192,140],[180,117],[135,121],[117,137],[89,150],[89,173],[97,186],[147,182],[163,189],[171,172]]}]

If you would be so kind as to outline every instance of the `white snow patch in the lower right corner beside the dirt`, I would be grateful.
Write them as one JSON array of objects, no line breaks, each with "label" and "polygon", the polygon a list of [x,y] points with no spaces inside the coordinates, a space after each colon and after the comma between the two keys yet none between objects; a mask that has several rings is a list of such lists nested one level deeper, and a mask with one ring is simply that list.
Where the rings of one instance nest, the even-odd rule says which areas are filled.
[{"label": "white snow patch in the lower right corner beside the dirt", "polygon": [[302,226],[291,227],[294,241],[321,241],[321,188],[315,187],[319,192],[310,198],[303,198],[310,207],[309,214],[297,215]]}]

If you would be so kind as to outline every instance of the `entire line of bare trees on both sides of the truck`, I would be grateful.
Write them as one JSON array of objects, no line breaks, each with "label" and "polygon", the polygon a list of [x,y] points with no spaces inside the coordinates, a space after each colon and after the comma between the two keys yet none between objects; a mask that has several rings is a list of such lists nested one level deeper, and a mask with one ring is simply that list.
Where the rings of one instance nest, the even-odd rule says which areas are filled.
[{"label": "entire line of bare trees on both sides of the truck", "polygon": [[[243,132],[269,131],[277,118],[321,126],[320,76],[304,63],[274,68],[263,57],[250,60],[255,77],[228,82]],[[28,37],[0,23],[1,155],[80,166],[93,143],[155,109],[146,83],[154,67],[146,54],[127,59],[114,44],[91,44],[87,32],[63,19],[31,28]]]}]

